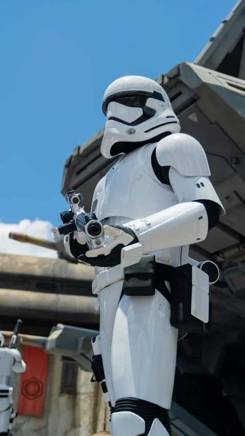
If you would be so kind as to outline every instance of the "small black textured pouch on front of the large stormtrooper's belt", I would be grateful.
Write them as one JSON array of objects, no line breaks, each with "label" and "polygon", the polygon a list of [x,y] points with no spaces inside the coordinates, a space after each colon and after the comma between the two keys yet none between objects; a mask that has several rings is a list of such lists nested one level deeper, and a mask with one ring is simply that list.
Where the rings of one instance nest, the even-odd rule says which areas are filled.
[{"label": "small black textured pouch on front of the large stormtrooper's belt", "polygon": [[155,256],[143,255],[140,261],[125,268],[124,294],[147,296],[155,294]]}]

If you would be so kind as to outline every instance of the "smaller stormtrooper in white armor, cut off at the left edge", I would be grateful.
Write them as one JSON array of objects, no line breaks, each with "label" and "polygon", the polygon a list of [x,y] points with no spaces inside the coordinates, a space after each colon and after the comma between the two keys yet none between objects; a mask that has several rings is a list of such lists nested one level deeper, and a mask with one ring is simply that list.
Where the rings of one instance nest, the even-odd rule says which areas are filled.
[{"label": "smaller stormtrooper in white armor, cut off at the left edge", "polygon": [[0,435],[7,435],[13,406],[13,387],[9,386],[11,371],[22,374],[26,363],[18,350],[5,348],[4,336],[0,333]]}]

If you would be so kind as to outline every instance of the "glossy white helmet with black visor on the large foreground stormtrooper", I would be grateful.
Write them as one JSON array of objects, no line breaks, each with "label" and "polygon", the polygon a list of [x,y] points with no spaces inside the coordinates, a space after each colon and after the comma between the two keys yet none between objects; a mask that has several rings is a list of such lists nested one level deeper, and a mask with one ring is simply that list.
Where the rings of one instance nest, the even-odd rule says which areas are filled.
[{"label": "glossy white helmet with black visor on the large foreground stormtrooper", "polygon": [[106,115],[101,145],[110,158],[152,142],[167,134],[179,133],[176,117],[162,86],[142,76],[125,76],[105,91],[102,110]]}]

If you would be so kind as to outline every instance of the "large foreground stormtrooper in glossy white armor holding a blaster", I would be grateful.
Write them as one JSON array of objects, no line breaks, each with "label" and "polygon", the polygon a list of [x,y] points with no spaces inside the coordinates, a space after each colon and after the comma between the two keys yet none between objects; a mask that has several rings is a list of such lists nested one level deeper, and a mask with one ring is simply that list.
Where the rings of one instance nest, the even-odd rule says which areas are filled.
[{"label": "large foreground stormtrooper in glossy white armor holding a blaster", "polygon": [[112,435],[167,436],[178,328],[201,330],[208,322],[213,281],[204,264],[188,257],[189,244],[203,241],[225,211],[202,146],[179,133],[158,83],[140,76],[115,80],[103,112],[101,152],[119,158],[92,200],[104,246],[90,249],[75,231],[65,247],[95,266],[101,321],[92,368],[111,406]]}]

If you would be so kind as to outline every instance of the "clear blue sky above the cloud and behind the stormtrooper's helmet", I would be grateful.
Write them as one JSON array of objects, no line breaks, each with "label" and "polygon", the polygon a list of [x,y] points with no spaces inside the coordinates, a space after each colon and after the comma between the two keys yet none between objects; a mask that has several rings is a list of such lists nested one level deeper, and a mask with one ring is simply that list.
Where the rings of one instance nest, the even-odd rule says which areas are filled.
[{"label": "clear blue sky above the cloud and behind the stormtrooper's helmet", "polygon": [[192,62],[234,0],[0,0],[0,221],[58,225],[63,165],[106,87]]}]

